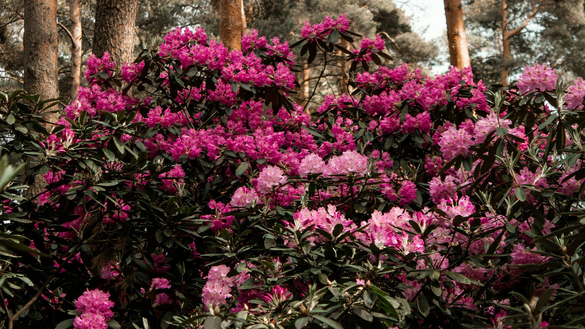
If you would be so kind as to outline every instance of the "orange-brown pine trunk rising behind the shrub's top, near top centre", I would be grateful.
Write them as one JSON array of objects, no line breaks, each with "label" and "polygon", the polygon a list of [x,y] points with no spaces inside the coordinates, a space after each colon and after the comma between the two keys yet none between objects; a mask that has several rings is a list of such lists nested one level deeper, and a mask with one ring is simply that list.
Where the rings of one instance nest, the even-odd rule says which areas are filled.
[{"label": "orange-brown pine trunk rising behind the shrub's top, near top centre", "polygon": [[246,30],[243,0],[218,0],[219,39],[228,50],[242,49],[242,33]]}]

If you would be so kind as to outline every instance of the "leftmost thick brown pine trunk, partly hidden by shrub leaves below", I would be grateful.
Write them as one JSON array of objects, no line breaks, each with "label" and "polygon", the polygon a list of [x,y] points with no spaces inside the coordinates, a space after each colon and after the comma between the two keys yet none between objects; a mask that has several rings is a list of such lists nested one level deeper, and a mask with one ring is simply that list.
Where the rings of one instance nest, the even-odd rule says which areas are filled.
[{"label": "leftmost thick brown pine trunk, partly hidden by shrub leaves below", "polygon": [[[25,89],[29,94],[39,94],[41,100],[57,98],[57,1],[26,0],[24,28]],[[44,112],[42,116],[47,122],[59,119],[59,113]],[[43,190],[42,177],[37,175],[36,180],[32,180],[30,169],[37,165],[37,161],[29,159],[26,163],[25,183],[29,184],[26,197],[35,196]]]}]

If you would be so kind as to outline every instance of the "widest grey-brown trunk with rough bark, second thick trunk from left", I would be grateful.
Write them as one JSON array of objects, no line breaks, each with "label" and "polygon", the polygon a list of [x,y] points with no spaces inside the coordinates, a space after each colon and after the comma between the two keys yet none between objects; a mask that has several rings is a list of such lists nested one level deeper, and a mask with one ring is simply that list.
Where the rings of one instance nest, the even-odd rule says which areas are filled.
[{"label": "widest grey-brown trunk with rough bark, second thick trunk from left", "polygon": [[97,0],[95,9],[95,56],[109,52],[116,67],[134,60],[134,27],[138,0]]}]

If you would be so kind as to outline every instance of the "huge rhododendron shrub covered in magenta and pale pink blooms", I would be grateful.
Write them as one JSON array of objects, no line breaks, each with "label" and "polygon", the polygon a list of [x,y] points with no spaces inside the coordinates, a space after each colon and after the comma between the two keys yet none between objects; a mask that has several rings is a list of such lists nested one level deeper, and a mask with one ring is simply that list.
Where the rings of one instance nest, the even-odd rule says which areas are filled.
[{"label": "huge rhododendron shrub covered in magenta and pale pink blooms", "polygon": [[[3,265],[9,325],[579,324],[583,81],[425,77],[348,26],[306,23],[294,47],[252,31],[232,52],[177,28],[134,63],[92,56],[59,122],[0,94],[2,153],[30,167],[2,227],[38,251]],[[295,56],[324,78],[350,61],[350,94],[308,115]]]}]

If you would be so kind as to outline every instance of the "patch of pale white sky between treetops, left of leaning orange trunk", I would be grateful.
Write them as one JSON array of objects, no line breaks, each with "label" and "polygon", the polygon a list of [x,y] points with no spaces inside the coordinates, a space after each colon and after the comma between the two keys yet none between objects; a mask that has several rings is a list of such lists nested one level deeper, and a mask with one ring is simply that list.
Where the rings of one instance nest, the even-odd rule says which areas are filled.
[{"label": "patch of pale white sky between treetops, left of leaning orange trunk", "polygon": [[[408,16],[411,16],[411,26],[426,40],[441,38],[447,29],[445,6],[442,0],[394,0]],[[439,44],[443,44],[441,40]],[[446,52],[446,47],[444,47]],[[448,60],[448,59],[445,59]],[[449,69],[449,63],[432,67],[433,74],[442,74]]]}]

